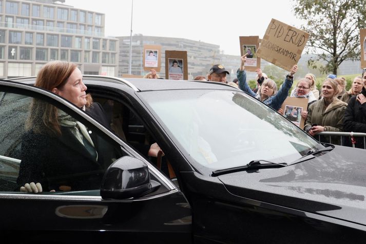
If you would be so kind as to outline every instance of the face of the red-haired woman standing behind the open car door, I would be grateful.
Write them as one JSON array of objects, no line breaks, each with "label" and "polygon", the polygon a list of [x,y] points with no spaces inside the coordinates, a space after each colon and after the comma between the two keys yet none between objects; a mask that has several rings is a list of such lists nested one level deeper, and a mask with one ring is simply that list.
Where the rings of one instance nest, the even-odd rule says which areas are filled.
[{"label": "face of the red-haired woman standing behind the open car door", "polygon": [[86,104],[86,89],[83,83],[83,75],[80,69],[76,68],[66,84],[61,89],[57,89],[58,95],[69,100],[78,107],[83,107]]}]

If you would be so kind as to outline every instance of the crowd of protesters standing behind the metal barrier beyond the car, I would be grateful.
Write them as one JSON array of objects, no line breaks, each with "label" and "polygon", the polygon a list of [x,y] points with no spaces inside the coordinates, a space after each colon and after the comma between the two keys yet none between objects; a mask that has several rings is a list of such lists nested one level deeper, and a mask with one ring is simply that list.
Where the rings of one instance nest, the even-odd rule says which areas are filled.
[{"label": "crowd of protesters standing behind the metal barrier beyond the car", "polygon": [[[238,87],[249,95],[257,98],[284,115],[281,105],[290,93],[290,97],[306,98],[307,108],[301,111],[301,118],[305,121],[303,129],[311,136],[321,132],[358,132],[366,133],[366,72],[357,76],[350,90],[345,90],[345,79],[329,74],[322,81],[321,90],[316,88],[316,77],[312,73],[298,78],[296,87],[290,92],[294,83],[297,65],[287,74],[281,87],[269,79],[261,69],[257,69],[257,85],[254,89],[246,81],[245,62],[247,55],[241,57],[241,64],[237,71],[237,78],[227,82],[229,72],[222,65],[214,65],[207,74],[207,81],[222,82]],[[196,77],[195,80],[202,80]],[[321,141],[333,144],[352,145],[364,148],[363,138],[359,140],[351,137],[331,136],[321,137]]]}]

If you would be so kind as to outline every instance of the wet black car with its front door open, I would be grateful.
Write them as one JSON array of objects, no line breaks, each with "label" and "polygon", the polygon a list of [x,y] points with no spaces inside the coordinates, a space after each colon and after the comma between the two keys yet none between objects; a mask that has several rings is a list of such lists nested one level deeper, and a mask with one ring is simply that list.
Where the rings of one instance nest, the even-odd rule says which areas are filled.
[{"label": "wet black car with its front door open", "polygon": [[[107,128],[65,99],[32,86],[34,79],[0,81],[3,240],[366,239],[364,149],[320,144],[272,108],[222,83],[84,76],[87,92],[105,110]],[[22,138],[34,101],[65,111],[102,142],[100,187],[19,191]],[[147,156],[153,143],[165,156]],[[75,175],[64,176],[68,177]]]}]

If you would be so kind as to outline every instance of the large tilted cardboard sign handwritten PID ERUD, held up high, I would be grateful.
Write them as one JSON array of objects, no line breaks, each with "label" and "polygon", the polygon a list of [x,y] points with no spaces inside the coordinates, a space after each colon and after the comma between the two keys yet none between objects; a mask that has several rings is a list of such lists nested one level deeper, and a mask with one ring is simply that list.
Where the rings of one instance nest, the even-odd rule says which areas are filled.
[{"label": "large tilted cardboard sign handwritten PID ERUD, held up high", "polygon": [[263,36],[257,55],[290,71],[301,58],[309,33],[272,19]]}]

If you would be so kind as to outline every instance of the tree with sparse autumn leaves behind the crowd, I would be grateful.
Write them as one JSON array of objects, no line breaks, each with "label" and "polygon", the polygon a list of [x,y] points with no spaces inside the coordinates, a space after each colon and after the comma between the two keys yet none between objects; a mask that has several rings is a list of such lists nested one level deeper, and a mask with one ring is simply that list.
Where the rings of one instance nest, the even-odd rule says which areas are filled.
[{"label": "tree with sparse autumn leaves behind the crowd", "polygon": [[311,68],[337,74],[343,61],[360,59],[359,29],[365,28],[364,0],[293,1],[298,18],[306,21],[301,28],[310,33],[307,53],[317,55],[308,61]]}]

